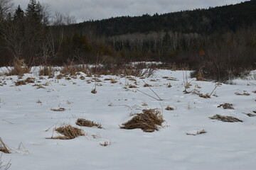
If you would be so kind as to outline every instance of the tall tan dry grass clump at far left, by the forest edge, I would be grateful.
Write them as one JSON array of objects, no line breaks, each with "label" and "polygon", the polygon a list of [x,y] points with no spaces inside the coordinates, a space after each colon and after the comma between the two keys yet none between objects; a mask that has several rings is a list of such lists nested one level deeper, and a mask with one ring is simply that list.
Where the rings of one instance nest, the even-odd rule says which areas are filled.
[{"label": "tall tan dry grass clump at far left, by the forest edge", "polygon": [[6,76],[13,76],[13,75],[18,75],[18,76],[23,76],[26,73],[29,73],[30,69],[26,66],[25,60],[14,60],[13,62],[13,68],[9,70],[8,73],[6,73]]}]

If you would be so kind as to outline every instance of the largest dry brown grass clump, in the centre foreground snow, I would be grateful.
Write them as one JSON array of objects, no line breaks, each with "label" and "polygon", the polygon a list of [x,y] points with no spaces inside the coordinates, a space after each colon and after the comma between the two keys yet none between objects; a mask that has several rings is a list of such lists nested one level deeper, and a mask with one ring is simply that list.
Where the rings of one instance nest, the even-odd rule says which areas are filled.
[{"label": "largest dry brown grass clump, in the centre foreground snow", "polygon": [[164,122],[163,116],[157,109],[145,109],[143,113],[136,114],[127,123],[123,123],[121,129],[142,129],[144,132],[159,130],[158,126]]}]

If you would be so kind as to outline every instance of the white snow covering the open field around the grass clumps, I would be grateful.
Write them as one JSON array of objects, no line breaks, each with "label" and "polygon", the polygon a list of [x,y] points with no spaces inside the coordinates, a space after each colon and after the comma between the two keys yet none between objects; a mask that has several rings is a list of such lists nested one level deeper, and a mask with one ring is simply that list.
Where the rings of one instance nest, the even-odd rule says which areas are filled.
[{"label": "white snow covering the open field around the grass clumps", "polygon": [[[256,91],[256,72],[247,79],[234,80],[233,85],[220,84],[210,98],[184,94],[183,74],[186,72],[160,69],[153,77],[134,77],[136,81],[101,76],[97,94],[91,93],[93,77],[82,73],[70,79],[48,79],[34,72],[22,79],[33,77],[35,82],[22,86],[15,86],[22,80],[17,76],[1,76],[0,137],[11,149],[11,154],[3,154],[1,161],[11,160],[10,169],[15,170],[256,169],[256,116],[246,115],[256,111],[256,94],[252,92]],[[105,80],[108,78],[117,83]],[[191,86],[187,91],[210,94],[215,88],[214,82],[191,78],[188,82]],[[151,85],[152,91],[144,87],[145,83]],[[38,89],[34,84],[44,85]],[[137,88],[125,88],[127,84]],[[218,108],[223,103],[232,103],[234,109]],[[167,106],[174,111],[166,111]],[[65,111],[52,111],[58,108]],[[131,115],[146,108],[159,108],[163,114],[166,121],[159,131],[119,128]],[[243,122],[209,118],[215,114]],[[75,125],[78,118],[100,123],[103,128]],[[63,123],[81,128],[86,135],[73,140],[46,139],[56,136],[53,129]],[[206,133],[197,135],[201,130]],[[100,145],[104,142],[109,145]]]}]

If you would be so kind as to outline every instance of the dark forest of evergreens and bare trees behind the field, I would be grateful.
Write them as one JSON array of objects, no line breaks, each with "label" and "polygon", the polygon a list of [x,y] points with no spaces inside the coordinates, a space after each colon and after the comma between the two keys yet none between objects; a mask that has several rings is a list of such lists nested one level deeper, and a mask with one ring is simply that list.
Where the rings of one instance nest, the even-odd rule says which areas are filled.
[{"label": "dark forest of evergreens and bare trees behind the field", "polygon": [[0,66],[160,61],[206,72],[256,68],[256,1],[76,23],[30,0],[0,0]]}]

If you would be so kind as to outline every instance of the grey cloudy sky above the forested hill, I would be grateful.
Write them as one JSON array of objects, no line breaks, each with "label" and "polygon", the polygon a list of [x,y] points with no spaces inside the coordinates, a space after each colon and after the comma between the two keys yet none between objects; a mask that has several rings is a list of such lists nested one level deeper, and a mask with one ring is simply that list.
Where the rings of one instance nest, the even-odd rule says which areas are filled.
[{"label": "grey cloudy sky above the forested hill", "polygon": [[[23,9],[29,0],[13,0]],[[50,5],[50,11],[69,13],[78,22],[110,18],[112,16],[141,16],[144,13],[169,13],[194,8],[208,8],[237,4],[241,0],[41,0]]]}]

